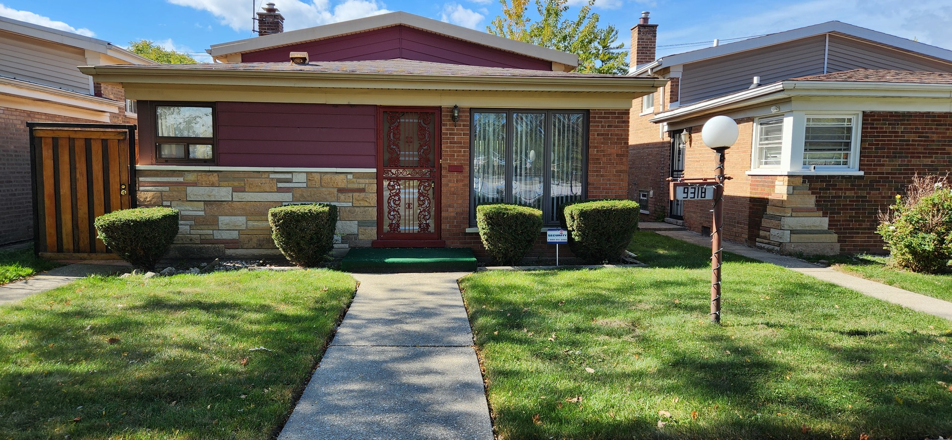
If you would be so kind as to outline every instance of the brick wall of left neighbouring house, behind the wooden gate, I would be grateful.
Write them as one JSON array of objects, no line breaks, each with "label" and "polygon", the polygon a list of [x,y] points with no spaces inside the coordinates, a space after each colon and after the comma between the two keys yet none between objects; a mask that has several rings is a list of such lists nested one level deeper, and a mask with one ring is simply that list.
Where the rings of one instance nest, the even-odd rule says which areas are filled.
[{"label": "brick wall of left neighbouring house, behind the wooden gate", "polygon": [[[115,99],[118,93],[122,101],[122,89],[109,85],[98,87]],[[135,123],[128,118],[125,108],[114,115],[114,124]],[[30,177],[30,130],[27,122],[79,122],[94,123],[86,119],[71,118],[57,114],[17,110],[0,107],[0,245],[29,240],[33,237],[33,198]]]}]

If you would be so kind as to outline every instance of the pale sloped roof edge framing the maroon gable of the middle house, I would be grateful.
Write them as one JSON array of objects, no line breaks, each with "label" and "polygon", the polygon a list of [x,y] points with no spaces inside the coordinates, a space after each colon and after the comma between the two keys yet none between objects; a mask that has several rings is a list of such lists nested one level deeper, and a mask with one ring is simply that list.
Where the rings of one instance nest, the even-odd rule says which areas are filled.
[{"label": "pale sloped roof edge framing the maroon gable of the middle house", "polygon": [[422,17],[403,11],[389,12],[380,15],[373,15],[356,20],[349,20],[329,25],[315,26],[302,30],[288,30],[287,32],[272,33],[248,38],[245,40],[231,41],[211,45],[206,50],[212,58],[224,59],[230,54],[244,53],[256,50],[267,50],[282,46],[290,46],[309,41],[323,40],[340,35],[364,32],[367,30],[377,30],[391,26],[404,25],[410,28],[426,30],[451,38],[468,41],[471,43],[506,50],[545,61],[560,63],[575,68],[579,64],[579,56],[574,53],[567,53],[561,50],[543,48],[522,41],[512,40],[506,37],[493,35],[479,30],[471,30],[462,26],[456,26],[432,18]]}]

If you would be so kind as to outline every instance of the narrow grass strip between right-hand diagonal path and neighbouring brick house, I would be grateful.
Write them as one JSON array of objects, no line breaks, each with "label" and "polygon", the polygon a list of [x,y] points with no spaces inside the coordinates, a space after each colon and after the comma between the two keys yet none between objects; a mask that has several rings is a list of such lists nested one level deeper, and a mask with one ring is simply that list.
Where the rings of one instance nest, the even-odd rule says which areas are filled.
[{"label": "narrow grass strip between right-hand diagonal path and neighbouring brick house", "polygon": [[952,301],[952,272],[930,275],[889,266],[889,257],[857,255],[831,259],[833,268],[900,289]]}]

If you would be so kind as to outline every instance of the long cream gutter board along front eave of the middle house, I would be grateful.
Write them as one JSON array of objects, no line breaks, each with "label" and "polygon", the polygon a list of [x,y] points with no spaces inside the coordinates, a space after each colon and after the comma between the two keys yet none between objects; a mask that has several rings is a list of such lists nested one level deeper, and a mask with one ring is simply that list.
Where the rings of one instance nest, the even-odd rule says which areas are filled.
[{"label": "long cream gutter board along front eave of the middle house", "polygon": [[263,70],[142,69],[134,66],[81,66],[96,81],[140,84],[390,89],[390,90],[529,90],[575,92],[654,92],[667,84],[657,78],[618,76],[460,76],[393,73],[300,72]]}]

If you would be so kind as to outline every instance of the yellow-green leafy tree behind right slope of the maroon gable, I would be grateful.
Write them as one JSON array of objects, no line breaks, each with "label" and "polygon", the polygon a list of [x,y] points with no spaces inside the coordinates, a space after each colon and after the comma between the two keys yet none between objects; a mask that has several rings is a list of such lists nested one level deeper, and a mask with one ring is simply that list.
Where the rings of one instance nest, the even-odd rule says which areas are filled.
[{"label": "yellow-green leafy tree behind right slope of the maroon gable", "polygon": [[528,0],[499,0],[503,12],[492,20],[486,31],[513,40],[579,55],[576,71],[623,74],[628,71],[628,51],[616,43],[618,30],[600,28],[599,14],[592,12],[595,0],[579,10],[574,19],[566,17],[568,0],[535,0],[538,19],[528,16]]}]

